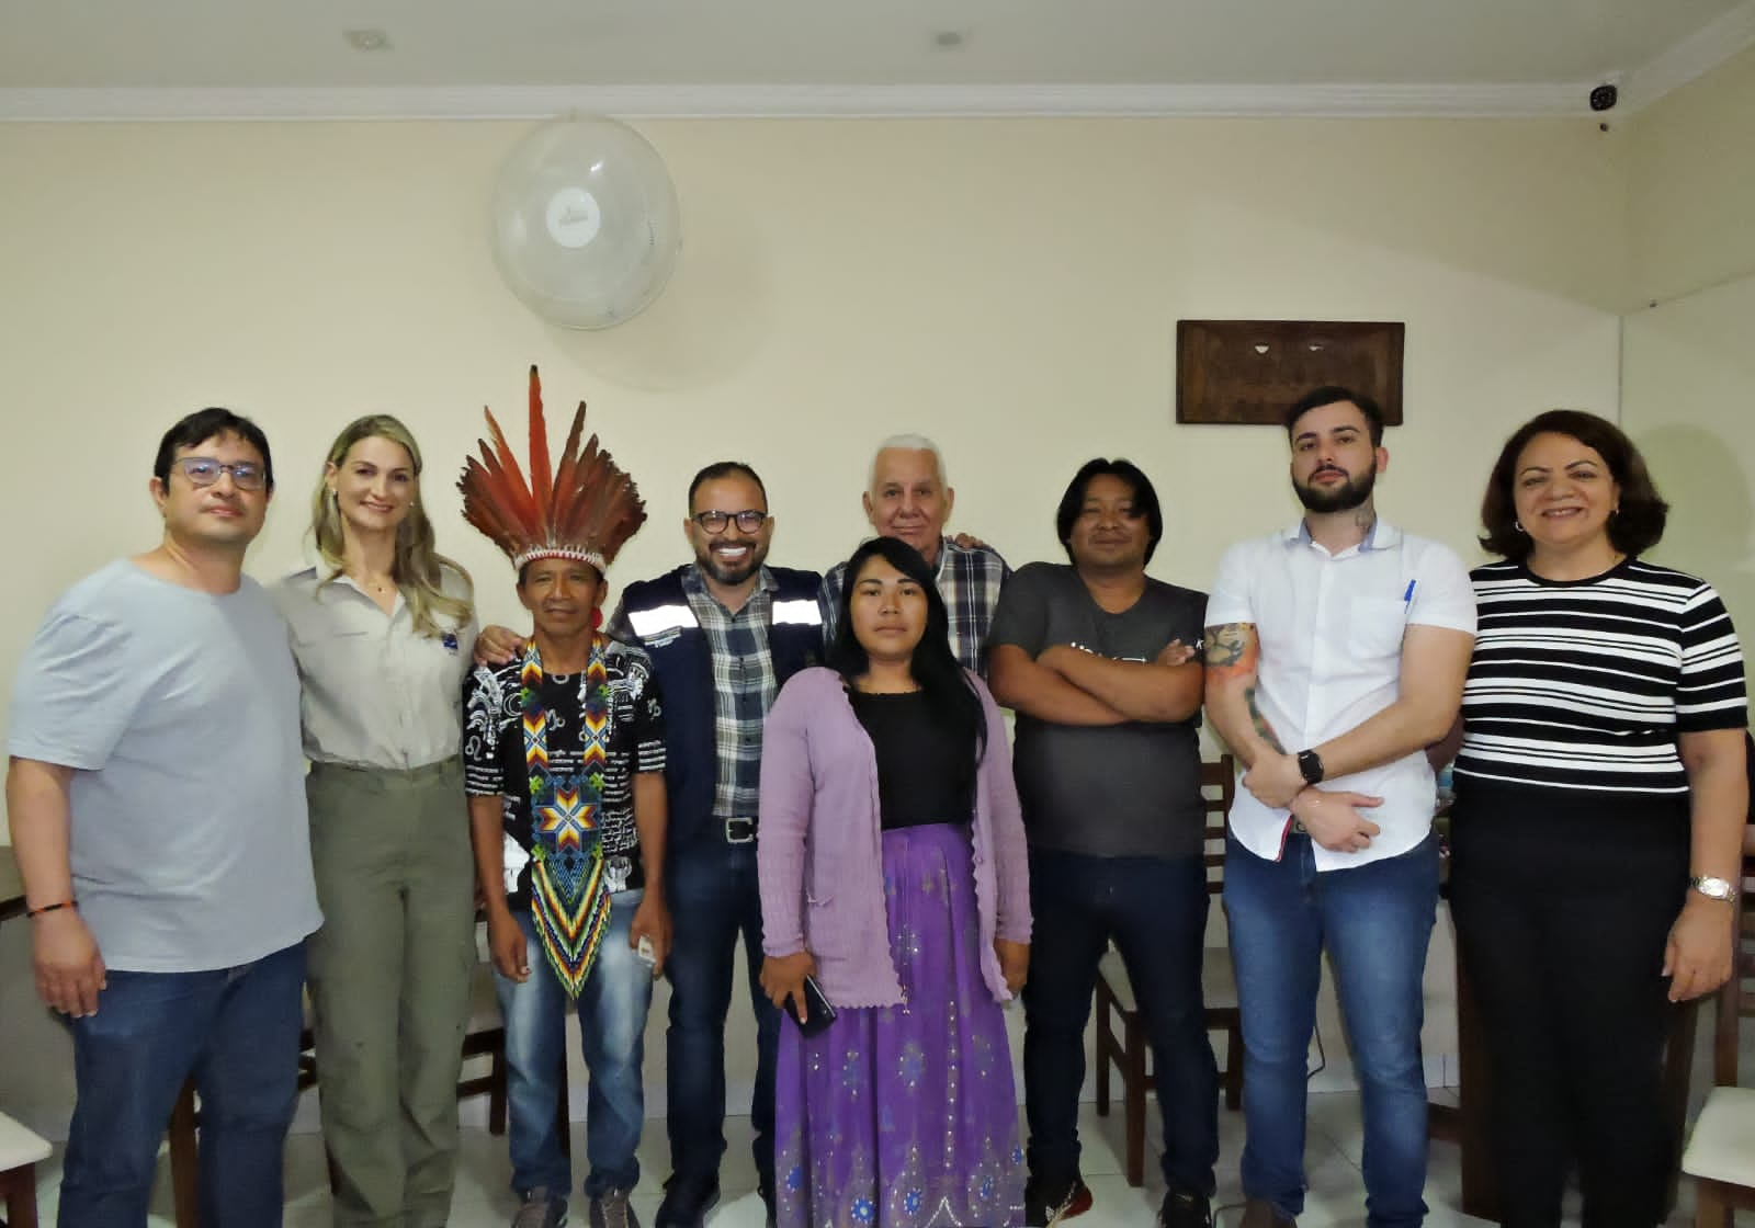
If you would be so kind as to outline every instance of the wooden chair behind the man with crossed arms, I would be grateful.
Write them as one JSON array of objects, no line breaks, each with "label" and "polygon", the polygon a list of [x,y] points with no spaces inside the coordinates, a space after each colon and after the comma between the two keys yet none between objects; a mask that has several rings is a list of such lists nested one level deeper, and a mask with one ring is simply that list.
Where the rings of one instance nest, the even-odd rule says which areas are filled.
[{"label": "wooden chair behind the man with crossed arms", "polygon": [[[1230,812],[1237,788],[1236,761],[1221,754],[1213,763],[1200,765],[1200,795],[1206,798],[1206,867],[1207,891],[1220,895],[1225,888],[1225,816]],[[1200,988],[1206,1000],[1209,1032],[1225,1033],[1225,1065],[1220,1067],[1220,1088],[1225,1089],[1225,1107],[1243,1107],[1243,1016],[1237,1012],[1237,977],[1230,965],[1230,947],[1207,947],[1200,963]],[[1116,1035],[1114,1023],[1121,1032]],[[1097,1112],[1109,1112],[1109,1063],[1121,1072],[1121,1116],[1127,1132],[1127,1184],[1139,1186],[1146,1177],[1146,1091],[1155,1079],[1146,1068],[1150,1044],[1144,1019],[1127,981],[1121,953],[1111,947],[1097,963]]]}]

